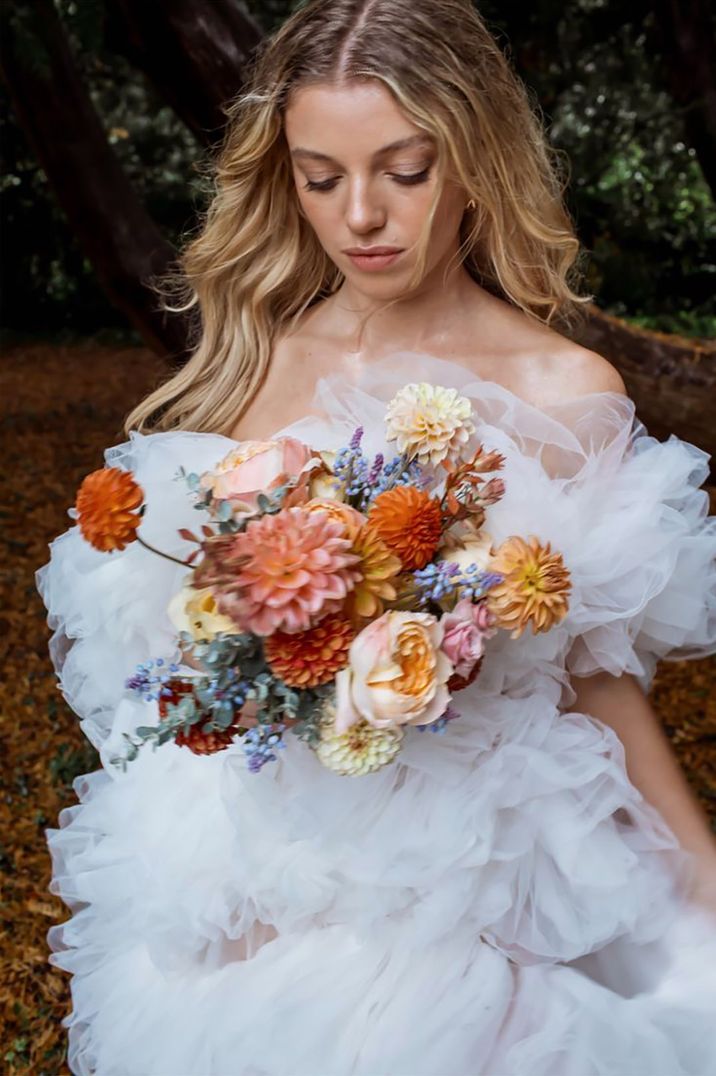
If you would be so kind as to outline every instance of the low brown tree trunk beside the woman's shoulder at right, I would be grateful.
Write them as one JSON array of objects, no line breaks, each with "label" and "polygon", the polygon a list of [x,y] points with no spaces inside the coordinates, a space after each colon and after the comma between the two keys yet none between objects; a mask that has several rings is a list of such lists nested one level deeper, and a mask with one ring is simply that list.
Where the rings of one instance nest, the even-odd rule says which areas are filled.
[{"label": "low brown tree trunk beside the woman's shoulder at right", "polygon": [[712,455],[716,480],[716,341],[652,332],[589,308],[578,342],[617,367],[655,437],[676,434]]}]

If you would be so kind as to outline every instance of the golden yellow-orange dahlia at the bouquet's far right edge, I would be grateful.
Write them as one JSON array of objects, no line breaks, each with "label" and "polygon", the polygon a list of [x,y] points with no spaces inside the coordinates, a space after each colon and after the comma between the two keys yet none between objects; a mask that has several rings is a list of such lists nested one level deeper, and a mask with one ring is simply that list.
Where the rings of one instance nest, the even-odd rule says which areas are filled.
[{"label": "golden yellow-orange dahlia at the bouquet's far right edge", "polygon": [[528,624],[536,635],[566,615],[570,572],[549,542],[542,546],[534,535],[529,541],[513,536],[497,549],[490,571],[505,578],[488,592],[488,608],[496,626],[511,631],[513,639],[519,639]]}]

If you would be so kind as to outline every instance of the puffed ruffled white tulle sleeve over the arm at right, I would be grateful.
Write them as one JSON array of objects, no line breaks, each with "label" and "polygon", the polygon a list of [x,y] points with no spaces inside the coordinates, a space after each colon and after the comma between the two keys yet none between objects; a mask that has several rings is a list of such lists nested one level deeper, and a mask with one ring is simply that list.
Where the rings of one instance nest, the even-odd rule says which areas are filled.
[{"label": "puffed ruffled white tulle sleeve over the arm at right", "polygon": [[[579,415],[603,415],[584,400]],[[628,431],[628,436],[624,436]],[[587,454],[565,495],[576,593],[566,667],[575,676],[634,675],[647,691],[660,659],[716,651],[716,518],[703,483],[708,454],[651,437],[634,415]]]}]

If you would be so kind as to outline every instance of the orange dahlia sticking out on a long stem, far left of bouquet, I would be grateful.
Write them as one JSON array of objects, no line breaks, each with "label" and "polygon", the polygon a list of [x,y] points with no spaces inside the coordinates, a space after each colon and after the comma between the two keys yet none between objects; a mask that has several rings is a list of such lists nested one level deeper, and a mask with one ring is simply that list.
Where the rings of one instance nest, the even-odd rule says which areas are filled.
[{"label": "orange dahlia sticking out on a long stem, far left of bouquet", "polygon": [[129,471],[103,467],[87,475],[74,505],[83,537],[103,553],[124,549],[137,538],[137,509],[143,499]]}]

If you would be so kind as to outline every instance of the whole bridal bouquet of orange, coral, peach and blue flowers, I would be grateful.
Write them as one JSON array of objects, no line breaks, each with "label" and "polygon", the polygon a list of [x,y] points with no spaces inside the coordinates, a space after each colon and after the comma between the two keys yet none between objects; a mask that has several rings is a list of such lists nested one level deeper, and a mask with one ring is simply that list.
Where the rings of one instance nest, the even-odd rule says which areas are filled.
[{"label": "whole bridal bouquet of orange, coral, peach and blue flowers", "polygon": [[[385,427],[390,459],[367,456],[357,428],[337,453],[245,441],[211,471],[181,470],[206,522],[199,535],[180,530],[196,549],[179,562],[191,571],[168,609],[177,652],[126,682],[158,720],[126,737],[116,764],[148,741],[207,754],[239,737],[258,773],[290,731],[329,769],[367,774],[409,730],[443,733],[459,717],[451,698],[497,631],[518,638],[565,615],[561,554],[534,536],[494,548],[486,529],[504,458],[469,448],[469,401],[410,384]],[[97,549],[146,546],[143,502],[130,472],[103,468],[82,483],[74,514]]]}]

